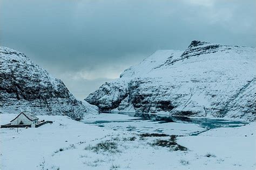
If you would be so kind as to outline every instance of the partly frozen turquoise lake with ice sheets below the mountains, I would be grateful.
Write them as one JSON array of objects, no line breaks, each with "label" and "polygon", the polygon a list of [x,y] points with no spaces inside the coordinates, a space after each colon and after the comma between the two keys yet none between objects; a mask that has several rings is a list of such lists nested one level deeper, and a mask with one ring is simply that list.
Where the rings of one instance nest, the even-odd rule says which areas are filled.
[{"label": "partly frozen turquoise lake with ice sheets below the mountains", "polygon": [[[120,115],[121,114],[121,115]],[[147,116],[149,118],[149,116]],[[215,128],[235,128],[246,125],[246,122],[227,121],[214,118],[188,118],[169,116],[150,116],[150,119],[132,117],[125,113],[100,114],[82,121],[105,129],[131,131],[139,133],[166,133],[196,136]]]}]

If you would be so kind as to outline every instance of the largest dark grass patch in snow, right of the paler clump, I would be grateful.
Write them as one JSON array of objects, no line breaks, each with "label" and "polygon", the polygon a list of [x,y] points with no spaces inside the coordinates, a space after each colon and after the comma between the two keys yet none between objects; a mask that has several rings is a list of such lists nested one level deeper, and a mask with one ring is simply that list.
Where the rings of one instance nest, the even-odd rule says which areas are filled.
[{"label": "largest dark grass patch in snow, right of the paler clump", "polygon": [[151,146],[169,147],[172,151],[186,151],[187,148],[177,144],[176,136],[170,136],[169,140],[157,139]]}]

